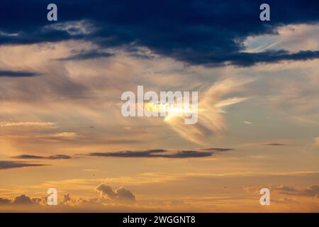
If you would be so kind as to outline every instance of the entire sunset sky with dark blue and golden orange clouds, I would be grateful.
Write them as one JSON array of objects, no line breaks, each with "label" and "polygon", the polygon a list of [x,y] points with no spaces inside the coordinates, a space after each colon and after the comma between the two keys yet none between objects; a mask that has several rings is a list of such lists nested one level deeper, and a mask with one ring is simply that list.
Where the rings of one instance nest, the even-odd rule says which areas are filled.
[{"label": "entire sunset sky with dark blue and golden orange clouds", "polygon": [[319,212],[319,2],[263,3],[1,1],[0,212]]}]

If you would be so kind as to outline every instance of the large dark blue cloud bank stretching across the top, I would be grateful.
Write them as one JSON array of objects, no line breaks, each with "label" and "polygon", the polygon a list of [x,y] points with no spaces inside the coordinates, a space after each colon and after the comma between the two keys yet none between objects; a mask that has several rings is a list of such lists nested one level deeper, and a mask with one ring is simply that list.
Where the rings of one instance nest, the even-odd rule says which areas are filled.
[{"label": "large dark blue cloud bank stretching across the top", "polygon": [[[210,66],[318,58],[318,51],[245,53],[242,40],[249,35],[276,33],[278,26],[318,22],[319,1],[267,1],[271,6],[271,21],[267,22],[259,20],[259,6],[264,3],[259,0],[57,0],[57,22],[46,19],[49,3],[1,2],[0,44],[83,39],[101,48],[145,46],[189,64]],[[88,21],[94,30],[79,33],[54,27],[44,29],[67,21]]]}]

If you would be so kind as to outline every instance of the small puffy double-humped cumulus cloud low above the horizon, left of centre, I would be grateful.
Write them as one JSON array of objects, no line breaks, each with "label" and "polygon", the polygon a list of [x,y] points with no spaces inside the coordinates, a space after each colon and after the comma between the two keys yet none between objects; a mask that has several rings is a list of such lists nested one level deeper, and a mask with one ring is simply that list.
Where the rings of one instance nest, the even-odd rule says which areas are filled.
[{"label": "small puffy double-humped cumulus cloud low above the horizon, left of centre", "polygon": [[100,192],[101,197],[107,196],[108,199],[111,199],[112,201],[135,202],[135,195],[124,187],[120,187],[114,191],[110,186],[100,184],[96,187],[96,191]]}]

